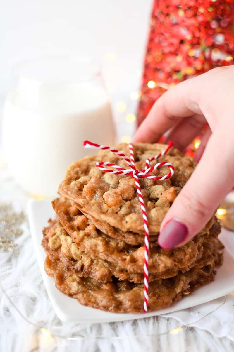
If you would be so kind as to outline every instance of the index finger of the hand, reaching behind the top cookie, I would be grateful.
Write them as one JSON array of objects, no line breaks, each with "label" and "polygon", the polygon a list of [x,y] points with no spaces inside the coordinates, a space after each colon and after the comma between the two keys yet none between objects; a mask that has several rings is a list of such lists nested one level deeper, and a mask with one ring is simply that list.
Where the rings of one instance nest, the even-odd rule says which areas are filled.
[{"label": "index finger of the hand, reaching behind the top cookie", "polygon": [[[161,135],[194,113],[202,114],[198,105],[197,77],[181,82],[164,93],[153,105],[133,138],[133,142],[157,142]],[[190,94],[190,92],[192,92]]]}]

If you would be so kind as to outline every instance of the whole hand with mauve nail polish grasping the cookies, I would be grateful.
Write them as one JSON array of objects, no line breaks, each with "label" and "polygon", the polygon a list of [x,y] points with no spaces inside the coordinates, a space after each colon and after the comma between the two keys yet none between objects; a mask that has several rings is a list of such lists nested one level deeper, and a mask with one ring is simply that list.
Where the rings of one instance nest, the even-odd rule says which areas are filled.
[{"label": "whole hand with mauve nail polish grasping the cookies", "polygon": [[208,123],[195,160],[199,161],[162,221],[162,248],[182,246],[209,221],[234,183],[234,65],[179,83],[158,99],[133,142],[157,142],[172,128],[180,150]]}]

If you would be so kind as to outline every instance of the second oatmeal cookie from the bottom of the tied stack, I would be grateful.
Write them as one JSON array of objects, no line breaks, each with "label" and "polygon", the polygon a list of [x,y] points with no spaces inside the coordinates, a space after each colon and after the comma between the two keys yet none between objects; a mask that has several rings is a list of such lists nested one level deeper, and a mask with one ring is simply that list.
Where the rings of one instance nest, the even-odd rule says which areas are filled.
[{"label": "second oatmeal cookie from the bottom of the tied stack", "polygon": [[[119,280],[128,279],[128,281],[135,283],[143,282],[143,273],[129,273],[118,265],[81,251],[58,220],[49,220],[49,226],[44,229],[43,233],[42,246],[48,257],[52,261],[60,260],[66,270],[80,277],[90,276],[102,282],[109,282],[112,281],[114,276]],[[205,264],[212,264],[214,261],[212,251],[216,241],[216,238],[211,237],[209,245],[207,242],[203,242],[198,247],[198,255],[195,262],[190,264],[190,266],[184,267],[182,271],[187,271],[189,267],[193,266],[200,268]],[[175,265],[173,268],[165,269],[163,272],[149,274],[149,281],[172,277],[177,275],[178,272],[179,266]]]}]

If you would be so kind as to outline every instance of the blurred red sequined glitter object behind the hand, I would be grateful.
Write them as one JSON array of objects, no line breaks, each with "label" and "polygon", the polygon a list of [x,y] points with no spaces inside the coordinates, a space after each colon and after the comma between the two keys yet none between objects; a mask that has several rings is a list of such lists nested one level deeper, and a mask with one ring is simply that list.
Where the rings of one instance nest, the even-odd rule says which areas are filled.
[{"label": "blurred red sequined glitter object behind the hand", "polygon": [[155,0],[138,125],[166,89],[234,63],[234,0]]}]

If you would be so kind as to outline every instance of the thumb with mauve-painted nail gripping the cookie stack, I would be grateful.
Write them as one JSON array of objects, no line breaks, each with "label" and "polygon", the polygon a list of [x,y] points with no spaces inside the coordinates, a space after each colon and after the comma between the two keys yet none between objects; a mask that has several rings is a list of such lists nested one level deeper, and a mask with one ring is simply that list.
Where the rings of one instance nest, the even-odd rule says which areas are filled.
[{"label": "thumb with mauve-painted nail gripping the cookie stack", "polygon": [[219,130],[219,136],[210,137],[198,166],[163,219],[158,238],[162,248],[171,249],[192,239],[232,188],[233,146],[226,133]]}]

